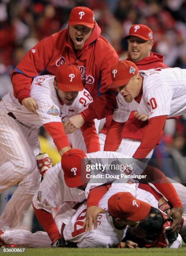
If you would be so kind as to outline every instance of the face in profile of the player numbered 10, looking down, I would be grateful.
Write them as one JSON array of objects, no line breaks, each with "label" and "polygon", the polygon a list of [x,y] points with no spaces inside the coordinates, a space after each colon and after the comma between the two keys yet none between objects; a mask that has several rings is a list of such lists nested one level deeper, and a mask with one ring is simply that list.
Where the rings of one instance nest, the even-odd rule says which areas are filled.
[{"label": "face in profile of the player numbered 10, looking down", "polygon": [[136,96],[138,96],[140,91],[140,87],[138,85],[139,79],[140,75],[137,74],[136,76],[132,77],[127,84],[116,88],[126,102],[130,103]]}]

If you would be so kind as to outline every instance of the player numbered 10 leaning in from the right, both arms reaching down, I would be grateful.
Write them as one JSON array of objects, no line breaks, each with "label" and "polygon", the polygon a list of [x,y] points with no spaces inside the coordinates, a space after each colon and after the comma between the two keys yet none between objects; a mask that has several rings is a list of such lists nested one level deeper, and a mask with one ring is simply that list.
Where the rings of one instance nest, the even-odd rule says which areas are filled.
[{"label": "player numbered 10 leaning in from the right, both arms reaching down", "polygon": [[120,61],[112,67],[111,74],[111,87],[117,88],[119,94],[104,150],[117,150],[125,122],[130,112],[137,110],[149,116],[149,123],[133,157],[145,158],[161,138],[166,118],[186,113],[186,70],[160,68],[139,72],[131,61]]}]

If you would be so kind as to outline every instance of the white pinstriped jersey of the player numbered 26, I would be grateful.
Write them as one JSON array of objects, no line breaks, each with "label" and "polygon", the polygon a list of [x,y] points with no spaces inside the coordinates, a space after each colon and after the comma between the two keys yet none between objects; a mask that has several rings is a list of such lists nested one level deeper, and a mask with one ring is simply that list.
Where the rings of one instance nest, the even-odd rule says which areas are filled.
[{"label": "white pinstriped jersey of the player numbered 26", "polygon": [[86,109],[92,97],[84,89],[78,93],[71,106],[61,105],[54,87],[53,75],[38,76],[33,79],[31,85],[31,97],[38,105],[38,115],[28,111],[13,96],[13,91],[3,97],[3,102],[8,112],[12,112],[18,121],[30,128],[39,128],[45,123],[61,122],[67,120],[73,115],[79,114]]}]

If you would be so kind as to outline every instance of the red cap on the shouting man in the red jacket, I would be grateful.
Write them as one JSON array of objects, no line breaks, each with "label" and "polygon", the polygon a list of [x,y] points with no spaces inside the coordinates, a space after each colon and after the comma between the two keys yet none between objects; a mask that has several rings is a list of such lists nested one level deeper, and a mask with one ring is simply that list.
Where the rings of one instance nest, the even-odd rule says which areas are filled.
[{"label": "red cap on the shouting man in the red jacket", "polygon": [[84,6],[75,7],[71,10],[68,24],[69,26],[84,25],[89,28],[94,28],[94,12]]}]

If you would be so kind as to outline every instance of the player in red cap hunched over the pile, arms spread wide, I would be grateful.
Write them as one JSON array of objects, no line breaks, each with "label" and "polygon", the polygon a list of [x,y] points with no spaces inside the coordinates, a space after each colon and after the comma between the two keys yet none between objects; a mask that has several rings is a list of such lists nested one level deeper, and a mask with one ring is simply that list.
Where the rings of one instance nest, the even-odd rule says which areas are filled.
[{"label": "player in red cap hunched over the pile, arms spread wide", "polygon": [[[33,206],[36,216],[40,221],[41,225],[43,226],[43,228],[47,231],[48,236],[51,238],[51,241],[53,243],[57,241],[59,238],[61,238],[61,235],[58,231],[58,228],[56,227],[52,215],[54,207],[58,207],[59,205],[62,205],[64,202],[82,202],[83,200],[86,200],[90,189],[107,182],[114,181],[116,185],[121,183],[124,184],[125,187],[128,186],[128,179],[116,179],[115,177],[110,177],[110,179],[106,179],[105,177],[102,177],[100,179],[93,178],[90,181],[88,178],[81,179],[81,177],[83,177],[81,176],[81,165],[82,167],[87,168],[89,160],[92,161],[92,164],[102,164],[102,166],[106,166],[107,164],[118,164],[118,161],[124,161],[125,163],[130,164],[132,160],[132,163],[134,165],[130,174],[142,174],[143,170],[146,168],[146,165],[143,164],[142,162],[135,159],[127,159],[127,156],[116,152],[99,151],[91,154],[85,154],[84,151],[74,148],[65,153],[62,157],[62,161],[56,164],[53,168],[48,170],[46,177],[44,177],[43,182],[41,182],[38,192],[33,197]],[[86,163],[84,161],[86,161]],[[83,173],[86,174],[85,169]],[[113,174],[112,170],[109,169],[107,170],[107,173]],[[123,172],[121,173],[123,174]],[[128,173],[128,171],[126,173]],[[97,174],[103,174],[103,172],[100,171],[100,169],[98,169]],[[156,172],[151,173],[151,175],[154,176],[155,179],[164,182],[164,184],[158,183],[156,184],[156,186],[163,193],[163,195],[165,195],[166,198],[170,200],[174,207],[171,210],[170,215],[174,215],[175,222],[173,223],[172,228],[176,230],[181,220],[183,206],[181,204],[181,201],[177,195],[175,188],[167,180],[167,178],[161,172],[159,172],[159,170],[157,171],[157,176],[155,174]],[[150,175],[150,171],[148,175]],[[68,186],[74,188],[68,187],[65,182],[67,182]],[[168,183],[165,184],[166,182]],[[80,190],[78,187],[84,184],[85,189]],[[180,189],[177,187],[179,192],[182,192],[183,188]],[[183,202],[183,205],[186,205],[185,198],[183,198],[183,195],[184,192],[181,195],[181,200]],[[88,215],[91,215],[91,217],[92,215],[94,215],[95,218],[97,218],[97,215],[100,212],[99,209],[99,211],[95,213],[93,209],[92,213],[92,208],[90,207],[93,205],[98,205],[100,198],[100,193],[97,193],[95,196],[93,196],[94,202],[89,205],[90,212],[88,210],[87,213]],[[97,199],[97,202],[95,202],[95,199]]]}]

